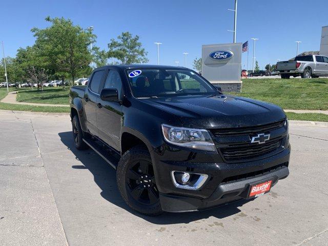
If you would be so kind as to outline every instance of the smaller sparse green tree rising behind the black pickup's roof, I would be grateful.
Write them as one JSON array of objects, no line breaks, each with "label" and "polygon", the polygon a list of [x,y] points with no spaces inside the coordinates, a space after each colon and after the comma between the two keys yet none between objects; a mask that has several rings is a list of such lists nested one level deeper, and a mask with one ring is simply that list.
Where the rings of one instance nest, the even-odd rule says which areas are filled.
[{"label": "smaller sparse green tree rising behind the black pickup's roof", "polygon": [[120,60],[122,64],[147,63],[148,61],[148,52],[142,48],[139,36],[132,37],[130,32],[122,32],[117,40],[112,38],[108,48],[107,57],[114,57]]}]

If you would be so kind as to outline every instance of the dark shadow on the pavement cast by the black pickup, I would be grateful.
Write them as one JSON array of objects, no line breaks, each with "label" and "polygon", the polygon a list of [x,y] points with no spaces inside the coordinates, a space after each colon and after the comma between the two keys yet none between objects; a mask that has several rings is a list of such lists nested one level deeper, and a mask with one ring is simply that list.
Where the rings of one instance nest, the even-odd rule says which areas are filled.
[{"label": "dark shadow on the pavement cast by the black pickup", "polygon": [[[199,211],[199,212],[187,212],[187,213],[164,213],[157,217],[141,215],[132,209],[121,198],[117,186],[116,186],[116,171],[109,166],[109,164],[98,156],[93,150],[80,151],[75,149],[72,132],[61,132],[58,134],[60,140],[67,146],[69,150],[75,155],[75,158],[83,163],[83,166],[72,166],[73,169],[88,169],[94,176],[94,181],[101,189],[100,195],[115,204],[116,206],[123,208],[130,213],[143,218],[151,223],[155,224],[176,224],[176,223],[190,223],[200,219],[206,219],[211,216],[218,219],[225,218],[236,213],[240,210],[238,207],[243,206],[249,200],[240,200],[221,207]],[[113,161],[115,161],[113,159]],[[117,161],[117,160],[116,160]]]}]

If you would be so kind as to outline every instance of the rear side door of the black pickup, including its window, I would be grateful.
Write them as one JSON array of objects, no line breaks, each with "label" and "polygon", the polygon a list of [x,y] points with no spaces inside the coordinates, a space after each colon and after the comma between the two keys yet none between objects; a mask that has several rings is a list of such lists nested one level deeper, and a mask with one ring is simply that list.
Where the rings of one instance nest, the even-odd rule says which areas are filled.
[{"label": "rear side door of the black pickup, including its window", "polygon": [[103,80],[105,70],[97,70],[92,74],[90,83],[84,94],[84,110],[86,114],[86,124],[90,133],[98,136],[97,130],[97,98],[99,97],[99,89]]}]

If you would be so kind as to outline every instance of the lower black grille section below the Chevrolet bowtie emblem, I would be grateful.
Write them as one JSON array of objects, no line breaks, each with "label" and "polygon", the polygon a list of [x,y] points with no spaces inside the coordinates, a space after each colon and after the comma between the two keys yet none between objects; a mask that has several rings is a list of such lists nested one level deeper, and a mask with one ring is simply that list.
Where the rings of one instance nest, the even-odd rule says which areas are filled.
[{"label": "lower black grille section below the Chevrolet bowtie emblem", "polygon": [[281,145],[282,139],[272,139],[265,144],[235,145],[233,147],[221,148],[220,152],[227,161],[253,159],[269,154],[277,150]]}]

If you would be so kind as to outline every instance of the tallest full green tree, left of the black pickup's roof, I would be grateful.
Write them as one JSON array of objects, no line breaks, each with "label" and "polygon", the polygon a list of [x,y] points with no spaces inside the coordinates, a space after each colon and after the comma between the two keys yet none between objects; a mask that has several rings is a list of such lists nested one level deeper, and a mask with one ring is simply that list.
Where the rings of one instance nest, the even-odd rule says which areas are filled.
[{"label": "tallest full green tree, left of the black pickup's roof", "polygon": [[88,46],[95,42],[91,30],[73,25],[70,19],[46,18],[51,25],[45,29],[33,28],[36,37],[34,47],[40,51],[40,60],[46,70],[52,71],[63,81],[91,72],[91,52]]}]

